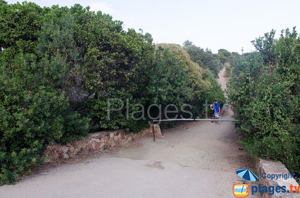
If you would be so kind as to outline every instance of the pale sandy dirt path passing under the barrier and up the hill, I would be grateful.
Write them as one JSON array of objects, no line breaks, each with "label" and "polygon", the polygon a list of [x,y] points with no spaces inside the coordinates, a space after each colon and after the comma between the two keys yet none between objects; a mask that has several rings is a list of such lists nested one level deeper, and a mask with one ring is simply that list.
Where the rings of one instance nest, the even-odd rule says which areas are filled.
[{"label": "pale sandy dirt path passing under the barrier and up the hill", "polygon": [[[225,110],[222,118],[231,116]],[[233,131],[230,122],[180,123],[162,130],[162,140],[143,137],[128,148],[2,186],[0,198],[233,198],[232,185],[241,182],[235,169],[253,166]]]}]

